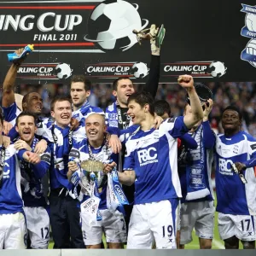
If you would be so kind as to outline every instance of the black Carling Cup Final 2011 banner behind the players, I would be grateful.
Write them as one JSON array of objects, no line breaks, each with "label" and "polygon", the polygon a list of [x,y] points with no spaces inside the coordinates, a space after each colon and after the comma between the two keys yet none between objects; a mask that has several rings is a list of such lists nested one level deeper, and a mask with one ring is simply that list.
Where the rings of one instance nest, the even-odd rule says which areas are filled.
[{"label": "black Carling Cup Final 2011 banner behind the players", "polygon": [[254,81],[256,0],[44,0],[0,2],[3,78],[7,54],[34,44],[20,83],[65,83],[84,74],[98,83],[148,78],[150,44],[132,31],[166,27],[160,82],[180,74],[196,81]]}]

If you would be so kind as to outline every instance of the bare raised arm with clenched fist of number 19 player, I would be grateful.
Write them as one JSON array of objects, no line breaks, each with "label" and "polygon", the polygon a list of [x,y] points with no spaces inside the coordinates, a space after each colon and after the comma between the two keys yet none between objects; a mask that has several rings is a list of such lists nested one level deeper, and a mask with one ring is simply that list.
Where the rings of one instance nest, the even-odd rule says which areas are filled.
[{"label": "bare raised arm with clenched fist of number 19 player", "polygon": [[200,99],[195,91],[194,79],[189,75],[179,76],[177,79],[185,90],[187,90],[190,99],[192,113],[184,116],[184,124],[191,129],[198,121],[203,119],[203,110],[201,108]]}]

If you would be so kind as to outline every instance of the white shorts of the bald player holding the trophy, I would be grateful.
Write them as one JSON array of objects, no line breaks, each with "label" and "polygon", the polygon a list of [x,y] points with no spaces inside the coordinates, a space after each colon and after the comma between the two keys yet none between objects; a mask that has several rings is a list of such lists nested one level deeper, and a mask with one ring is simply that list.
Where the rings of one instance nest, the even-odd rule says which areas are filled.
[{"label": "white shorts of the bald player holding the trophy", "polygon": [[126,227],[125,218],[120,212],[113,214],[108,209],[100,210],[102,220],[97,225],[90,225],[86,213],[81,213],[82,232],[85,245],[102,243],[102,233],[105,233],[107,242],[125,242]]}]

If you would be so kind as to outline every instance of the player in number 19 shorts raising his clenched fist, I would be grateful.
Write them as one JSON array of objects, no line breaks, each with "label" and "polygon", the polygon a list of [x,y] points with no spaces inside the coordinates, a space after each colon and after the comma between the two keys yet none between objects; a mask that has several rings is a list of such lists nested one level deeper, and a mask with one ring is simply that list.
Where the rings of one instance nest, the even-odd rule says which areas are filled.
[{"label": "player in number 19 shorts raising his clenched fist", "polygon": [[177,137],[202,118],[202,108],[191,76],[178,82],[190,97],[192,115],[166,119],[154,130],[154,99],[148,92],[134,93],[128,114],[140,128],[126,142],[124,171],[119,182],[135,183],[127,248],[176,248],[176,216],[181,189],[177,175]]}]

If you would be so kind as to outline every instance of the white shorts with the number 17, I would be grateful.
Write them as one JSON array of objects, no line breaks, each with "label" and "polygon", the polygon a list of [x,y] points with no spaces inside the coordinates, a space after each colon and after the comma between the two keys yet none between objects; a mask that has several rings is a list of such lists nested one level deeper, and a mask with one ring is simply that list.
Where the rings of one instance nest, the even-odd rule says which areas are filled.
[{"label": "white shorts with the number 17", "polygon": [[242,241],[255,241],[255,216],[218,212],[218,232],[222,240],[236,236]]}]

